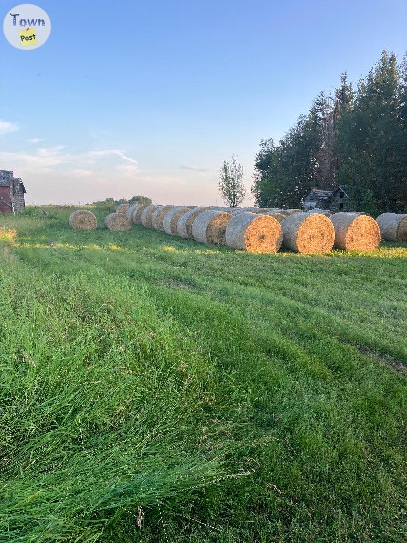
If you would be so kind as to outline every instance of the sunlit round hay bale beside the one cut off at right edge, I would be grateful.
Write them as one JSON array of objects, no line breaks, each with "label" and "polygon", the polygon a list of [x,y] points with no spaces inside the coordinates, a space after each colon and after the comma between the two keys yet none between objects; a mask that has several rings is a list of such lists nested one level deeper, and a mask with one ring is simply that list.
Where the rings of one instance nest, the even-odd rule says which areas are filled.
[{"label": "sunlit round hay bale beside the one cut off at right edge", "polygon": [[329,217],[335,229],[334,247],[345,251],[373,251],[380,243],[376,220],[357,213],[334,213]]}]

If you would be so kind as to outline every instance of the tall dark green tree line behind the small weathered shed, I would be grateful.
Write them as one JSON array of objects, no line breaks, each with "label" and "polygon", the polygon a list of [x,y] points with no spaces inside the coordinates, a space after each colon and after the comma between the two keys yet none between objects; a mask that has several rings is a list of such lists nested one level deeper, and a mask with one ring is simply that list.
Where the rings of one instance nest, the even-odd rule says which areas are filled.
[{"label": "tall dark green tree line behind the small weathered shed", "polygon": [[259,207],[301,207],[310,188],[341,185],[354,210],[405,212],[407,54],[398,64],[384,50],[355,88],[343,73],[281,141],[260,141],[253,177]]}]

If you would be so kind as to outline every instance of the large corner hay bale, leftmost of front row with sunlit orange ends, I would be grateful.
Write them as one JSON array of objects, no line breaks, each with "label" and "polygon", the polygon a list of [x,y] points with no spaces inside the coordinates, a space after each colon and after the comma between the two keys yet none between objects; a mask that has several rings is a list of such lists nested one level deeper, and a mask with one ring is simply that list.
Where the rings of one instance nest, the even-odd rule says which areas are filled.
[{"label": "large corner hay bale, leftmost of front row with sunlit orange ends", "polygon": [[247,252],[277,252],[283,241],[278,221],[268,214],[244,212],[226,226],[226,243]]}]

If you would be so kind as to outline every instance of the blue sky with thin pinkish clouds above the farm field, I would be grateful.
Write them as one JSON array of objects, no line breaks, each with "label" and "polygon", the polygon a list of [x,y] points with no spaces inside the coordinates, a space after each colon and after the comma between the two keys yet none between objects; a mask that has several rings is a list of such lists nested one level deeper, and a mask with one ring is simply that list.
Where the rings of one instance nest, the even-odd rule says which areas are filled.
[{"label": "blue sky with thin pinkish clouds above the farm field", "polygon": [[[42,47],[0,36],[0,169],[37,204],[220,204],[224,159],[249,188],[260,138],[343,71],[356,81],[383,48],[407,49],[395,0],[36,3],[52,23]],[[0,0],[2,21],[16,4]]]}]

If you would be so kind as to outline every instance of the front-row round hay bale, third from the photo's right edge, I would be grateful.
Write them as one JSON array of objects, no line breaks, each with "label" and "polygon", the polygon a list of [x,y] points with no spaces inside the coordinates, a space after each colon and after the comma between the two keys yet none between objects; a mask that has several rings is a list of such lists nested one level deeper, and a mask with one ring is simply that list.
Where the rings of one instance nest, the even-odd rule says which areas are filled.
[{"label": "front-row round hay bale, third from the photo's right edge", "polygon": [[335,241],[334,225],[319,213],[292,213],[281,222],[283,245],[292,251],[310,255],[328,252]]}]

